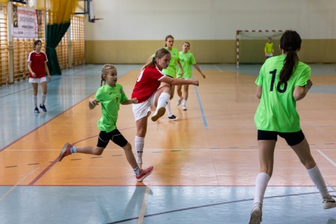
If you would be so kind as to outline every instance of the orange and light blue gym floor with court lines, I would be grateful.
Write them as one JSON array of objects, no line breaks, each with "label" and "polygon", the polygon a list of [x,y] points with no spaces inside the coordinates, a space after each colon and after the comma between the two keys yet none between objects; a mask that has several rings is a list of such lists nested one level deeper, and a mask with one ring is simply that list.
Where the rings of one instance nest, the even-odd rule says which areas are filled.
[{"label": "orange and light blue gym floor with court lines", "polygon": [[[118,83],[130,97],[141,65],[117,64]],[[123,150],[112,142],[100,156],[74,154],[57,162],[64,143],[95,146],[99,108],[87,100],[100,86],[102,65],[52,76],[45,106],[34,113],[24,80],[0,87],[0,223],[248,223],[258,174],[260,64],[200,64],[199,87],[190,86],[188,110],[176,106],[148,121],[142,183]],[[304,134],[331,195],[336,195],[336,65],[311,64],[314,85],[297,102]],[[41,88],[38,100],[41,99]],[[118,129],[134,149],[132,106],[120,106]],[[262,223],[336,223],[318,190],[283,139],[276,144],[274,174],[266,190]]]}]

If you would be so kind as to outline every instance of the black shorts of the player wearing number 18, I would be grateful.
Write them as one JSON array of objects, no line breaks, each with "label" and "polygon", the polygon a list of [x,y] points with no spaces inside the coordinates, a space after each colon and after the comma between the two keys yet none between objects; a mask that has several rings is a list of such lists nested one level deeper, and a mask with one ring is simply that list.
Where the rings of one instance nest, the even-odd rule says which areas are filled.
[{"label": "black shorts of the player wearing number 18", "polygon": [[258,130],[258,140],[278,140],[278,134],[280,137],[286,140],[288,146],[295,146],[304,139],[302,130],[298,132],[271,132]]}]

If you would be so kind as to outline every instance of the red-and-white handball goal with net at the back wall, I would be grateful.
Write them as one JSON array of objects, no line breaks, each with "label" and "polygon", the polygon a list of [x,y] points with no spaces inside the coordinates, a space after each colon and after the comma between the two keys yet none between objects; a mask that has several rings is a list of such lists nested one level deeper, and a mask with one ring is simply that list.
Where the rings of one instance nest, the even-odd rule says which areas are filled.
[{"label": "red-and-white handball goal with net at the back wall", "polygon": [[274,55],[280,55],[279,40],[286,30],[237,30],[237,66],[239,64],[262,64],[265,62],[265,44],[272,38]]}]

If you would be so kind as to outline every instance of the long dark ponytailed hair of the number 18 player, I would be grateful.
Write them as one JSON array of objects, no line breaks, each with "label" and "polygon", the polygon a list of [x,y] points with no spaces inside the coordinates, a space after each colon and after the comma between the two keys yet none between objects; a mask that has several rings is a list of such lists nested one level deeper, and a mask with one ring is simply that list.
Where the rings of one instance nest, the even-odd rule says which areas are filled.
[{"label": "long dark ponytailed hair of the number 18 player", "polygon": [[299,62],[299,57],[296,51],[301,48],[301,38],[296,31],[288,30],[280,38],[280,48],[287,52],[285,62],[280,71],[280,81],[279,83],[285,83],[289,80],[292,73],[295,71],[297,63]]}]

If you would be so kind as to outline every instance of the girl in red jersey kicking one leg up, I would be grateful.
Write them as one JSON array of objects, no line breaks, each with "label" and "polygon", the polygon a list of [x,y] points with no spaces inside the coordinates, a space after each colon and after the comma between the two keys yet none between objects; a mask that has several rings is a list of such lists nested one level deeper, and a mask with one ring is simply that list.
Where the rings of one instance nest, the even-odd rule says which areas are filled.
[{"label": "girl in red jersey kicking one leg up", "polygon": [[[161,48],[156,51],[155,57],[142,67],[132,92],[132,99],[138,99],[138,104],[132,104],[132,109],[137,124],[137,136],[134,142],[139,167],[142,165],[147,120],[152,109],[155,112],[151,119],[156,121],[166,112],[165,106],[169,102],[172,85],[199,85],[198,80],[183,80],[165,76],[162,73],[162,69],[167,68],[170,59],[169,50]],[[161,82],[168,83],[169,85],[162,85],[160,87]]]}]

